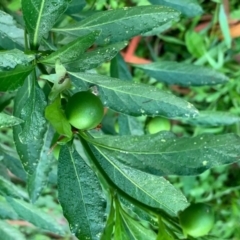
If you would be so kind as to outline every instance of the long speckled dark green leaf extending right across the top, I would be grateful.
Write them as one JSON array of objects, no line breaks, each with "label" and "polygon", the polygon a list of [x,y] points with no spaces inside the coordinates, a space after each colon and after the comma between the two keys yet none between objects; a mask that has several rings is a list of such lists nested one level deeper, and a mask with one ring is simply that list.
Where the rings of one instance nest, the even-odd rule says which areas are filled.
[{"label": "long speckled dark green leaf extending right across the top", "polygon": [[169,7],[139,6],[98,12],[77,24],[53,30],[75,36],[101,30],[97,43],[104,45],[128,40],[178,17],[179,12]]}]

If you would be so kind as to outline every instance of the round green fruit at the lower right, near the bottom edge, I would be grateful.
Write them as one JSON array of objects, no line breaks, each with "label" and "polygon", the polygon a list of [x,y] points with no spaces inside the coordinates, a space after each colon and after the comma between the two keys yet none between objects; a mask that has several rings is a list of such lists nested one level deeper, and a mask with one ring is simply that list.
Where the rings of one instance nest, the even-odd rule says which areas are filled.
[{"label": "round green fruit at the lower right, near the bottom edge", "polygon": [[196,203],[180,212],[179,220],[185,235],[201,237],[212,229],[214,214],[208,205]]}]

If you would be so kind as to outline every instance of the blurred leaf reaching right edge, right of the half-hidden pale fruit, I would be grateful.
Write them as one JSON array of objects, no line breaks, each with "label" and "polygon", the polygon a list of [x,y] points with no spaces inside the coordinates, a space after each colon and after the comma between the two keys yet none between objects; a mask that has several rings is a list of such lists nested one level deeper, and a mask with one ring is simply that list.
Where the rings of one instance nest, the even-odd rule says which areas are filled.
[{"label": "blurred leaf reaching right edge, right of the half-hidden pale fruit", "polygon": [[196,118],[183,121],[194,126],[222,126],[240,122],[240,117],[229,112],[201,111]]}]

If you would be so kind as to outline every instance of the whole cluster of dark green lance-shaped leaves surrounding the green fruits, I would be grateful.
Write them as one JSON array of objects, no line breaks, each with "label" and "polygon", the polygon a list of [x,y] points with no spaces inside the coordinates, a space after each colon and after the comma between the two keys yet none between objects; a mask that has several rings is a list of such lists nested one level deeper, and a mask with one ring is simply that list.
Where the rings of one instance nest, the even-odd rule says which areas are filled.
[{"label": "whole cluster of dark green lance-shaped leaves surrounding the green fruits", "polygon": [[[240,138],[235,134],[144,134],[140,116],[190,124],[239,121],[217,111],[208,112],[206,119],[206,112],[185,99],[133,81],[119,54],[129,39],[160,34],[181,14],[189,18],[202,13],[195,1],[150,2],[82,12],[85,1],[26,0],[21,5],[23,19],[17,16],[20,26],[11,14],[0,11],[0,127],[12,127],[14,142],[7,139],[0,148],[5,173],[1,203],[9,209],[6,213],[2,208],[2,219],[24,219],[42,230],[66,235],[65,227],[34,206],[53,174],[63,214],[79,239],[184,239],[177,215],[189,203],[165,176],[200,174],[239,160]],[[62,27],[64,22],[67,25]],[[110,76],[97,74],[94,68],[106,61],[111,61]],[[228,82],[222,73],[189,62],[162,59],[134,67],[169,85]],[[97,93],[108,109],[102,130],[72,131],[62,99],[87,89]],[[56,145],[61,146],[57,161],[50,150]],[[28,194],[4,177],[8,171],[26,183]],[[6,238],[24,239],[5,221],[1,225]]]}]

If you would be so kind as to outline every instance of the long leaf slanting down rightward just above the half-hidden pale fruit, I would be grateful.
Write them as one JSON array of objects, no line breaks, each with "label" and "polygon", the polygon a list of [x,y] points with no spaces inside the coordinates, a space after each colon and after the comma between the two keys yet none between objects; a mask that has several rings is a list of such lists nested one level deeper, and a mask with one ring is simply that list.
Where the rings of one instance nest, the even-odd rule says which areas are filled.
[{"label": "long leaf slanting down rightward just above the half-hidden pale fruit", "polygon": [[171,93],[147,84],[121,81],[116,78],[89,73],[70,73],[85,82],[98,86],[104,105],[133,116],[163,115],[192,117],[198,114],[194,106]]}]

